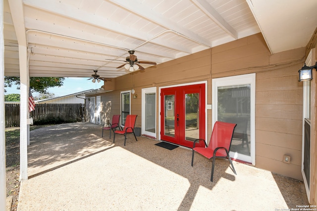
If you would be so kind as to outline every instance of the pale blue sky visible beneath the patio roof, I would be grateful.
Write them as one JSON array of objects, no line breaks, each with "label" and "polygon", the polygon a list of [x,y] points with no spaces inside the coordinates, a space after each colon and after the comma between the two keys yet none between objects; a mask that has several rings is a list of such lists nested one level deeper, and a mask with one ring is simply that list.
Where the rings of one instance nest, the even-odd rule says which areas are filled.
[{"label": "pale blue sky visible beneath the patio roof", "polygon": [[[89,89],[97,89],[103,85],[103,82],[92,83],[92,80],[87,80],[89,78],[65,78],[63,85],[60,87],[48,88],[50,93],[55,94],[55,97],[60,97],[68,94],[73,94],[81,91],[86,91]],[[6,87],[6,92],[4,94],[20,94],[20,90],[16,89],[16,86]],[[38,96],[38,93],[32,93],[32,95]]]}]

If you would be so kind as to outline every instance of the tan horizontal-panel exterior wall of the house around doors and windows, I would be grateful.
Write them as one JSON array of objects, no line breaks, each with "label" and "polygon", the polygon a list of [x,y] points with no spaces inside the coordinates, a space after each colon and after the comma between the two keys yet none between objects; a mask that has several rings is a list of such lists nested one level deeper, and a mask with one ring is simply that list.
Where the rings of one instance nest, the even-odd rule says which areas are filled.
[{"label": "tan horizontal-panel exterior wall of the house around doors and windows", "polygon": [[[102,124],[120,113],[120,91],[132,87],[138,97],[131,95],[131,113],[138,115],[136,127],[141,127],[142,88],[157,87],[159,102],[160,86],[207,81],[207,104],[211,104],[212,79],[256,73],[256,167],[303,180],[303,84],[298,82],[298,70],[304,61],[305,47],[270,55],[261,34],[203,50],[116,78],[114,91],[101,95]],[[208,139],[211,115],[208,110]],[[285,154],[291,156],[290,164],[282,162]]]}]

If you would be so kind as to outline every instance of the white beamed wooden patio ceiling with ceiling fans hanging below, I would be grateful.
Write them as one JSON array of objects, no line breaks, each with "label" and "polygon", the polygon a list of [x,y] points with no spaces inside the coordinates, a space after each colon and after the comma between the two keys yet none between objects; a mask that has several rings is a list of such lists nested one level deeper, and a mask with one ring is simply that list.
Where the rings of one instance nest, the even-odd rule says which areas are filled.
[{"label": "white beamed wooden patio ceiling with ceiling fans hanging below", "polygon": [[276,53],[306,46],[317,28],[317,0],[4,0],[3,9],[5,76],[19,75],[18,42],[30,77],[116,78],[129,72],[110,59],[129,49],[160,64],[262,32]]}]

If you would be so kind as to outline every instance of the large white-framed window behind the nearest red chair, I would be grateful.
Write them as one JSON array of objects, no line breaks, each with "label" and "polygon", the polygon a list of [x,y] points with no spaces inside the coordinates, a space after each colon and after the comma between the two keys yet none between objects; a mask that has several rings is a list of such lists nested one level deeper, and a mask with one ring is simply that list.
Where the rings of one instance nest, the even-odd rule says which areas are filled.
[{"label": "large white-framed window behind the nearest red chair", "polygon": [[236,123],[230,157],[255,165],[256,75],[212,79],[212,125]]}]

